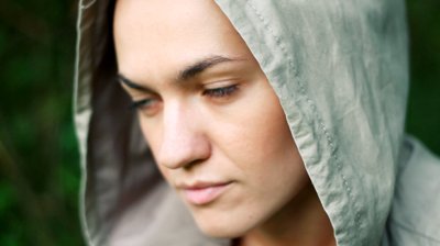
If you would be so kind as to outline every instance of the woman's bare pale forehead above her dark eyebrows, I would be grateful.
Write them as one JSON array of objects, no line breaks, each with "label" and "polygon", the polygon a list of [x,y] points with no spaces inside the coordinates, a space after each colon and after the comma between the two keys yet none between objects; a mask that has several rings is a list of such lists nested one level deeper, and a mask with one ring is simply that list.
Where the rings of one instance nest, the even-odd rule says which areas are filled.
[{"label": "woman's bare pale forehead above her dark eyebrows", "polygon": [[114,42],[120,72],[133,79],[170,80],[206,57],[253,58],[213,1],[119,1]]}]

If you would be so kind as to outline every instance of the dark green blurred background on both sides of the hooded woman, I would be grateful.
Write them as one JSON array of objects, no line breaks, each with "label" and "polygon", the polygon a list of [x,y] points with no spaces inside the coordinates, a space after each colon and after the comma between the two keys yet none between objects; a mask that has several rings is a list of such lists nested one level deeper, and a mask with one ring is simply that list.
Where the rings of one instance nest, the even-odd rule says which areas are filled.
[{"label": "dark green blurred background on both sides of the hooded woman", "polygon": [[[84,245],[72,119],[76,1],[0,2],[0,245]],[[410,0],[407,131],[440,154],[440,1]]]}]

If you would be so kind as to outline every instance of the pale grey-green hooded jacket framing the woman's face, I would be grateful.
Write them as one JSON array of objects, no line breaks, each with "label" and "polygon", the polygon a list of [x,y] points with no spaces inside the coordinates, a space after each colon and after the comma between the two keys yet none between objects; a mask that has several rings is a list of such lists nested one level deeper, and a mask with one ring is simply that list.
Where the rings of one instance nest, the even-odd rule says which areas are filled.
[{"label": "pale grey-green hooded jacket framing the woman's face", "polygon": [[[279,98],[338,245],[440,245],[440,163],[404,133],[404,2],[216,2]],[[198,231],[112,82],[113,10],[109,0],[79,3],[75,122],[86,241],[229,245]]]}]

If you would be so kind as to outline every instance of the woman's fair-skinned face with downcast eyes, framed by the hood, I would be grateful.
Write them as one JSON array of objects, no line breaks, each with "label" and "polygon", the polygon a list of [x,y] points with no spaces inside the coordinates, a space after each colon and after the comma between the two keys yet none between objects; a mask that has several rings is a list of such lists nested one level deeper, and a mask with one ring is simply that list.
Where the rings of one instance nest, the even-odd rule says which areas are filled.
[{"label": "woman's fair-skinned face with downcast eyes, framed by the hood", "polygon": [[118,1],[124,89],[168,183],[211,236],[270,221],[308,182],[258,63],[213,1]]}]

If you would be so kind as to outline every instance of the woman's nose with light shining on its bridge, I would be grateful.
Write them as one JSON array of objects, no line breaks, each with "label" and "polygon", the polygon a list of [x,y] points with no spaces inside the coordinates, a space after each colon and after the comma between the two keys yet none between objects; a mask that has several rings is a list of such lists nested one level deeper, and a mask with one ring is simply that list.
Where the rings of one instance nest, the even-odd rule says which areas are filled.
[{"label": "woman's nose with light shining on its bridge", "polygon": [[164,110],[158,165],[177,169],[209,158],[211,146],[199,120],[197,112],[182,107]]}]

